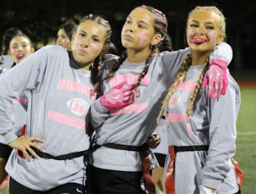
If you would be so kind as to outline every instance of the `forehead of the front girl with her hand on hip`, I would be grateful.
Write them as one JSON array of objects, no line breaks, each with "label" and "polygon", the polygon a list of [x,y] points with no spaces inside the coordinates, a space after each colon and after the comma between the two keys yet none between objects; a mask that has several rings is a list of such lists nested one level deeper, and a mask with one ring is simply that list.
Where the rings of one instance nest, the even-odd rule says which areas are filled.
[{"label": "forehead of the front girl with her hand on hip", "polygon": [[96,21],[84,21],[78,26],[77,31],[89,33],[92,36],[104,38],[106,35],[106,28],[103,25],[96,23]]}]

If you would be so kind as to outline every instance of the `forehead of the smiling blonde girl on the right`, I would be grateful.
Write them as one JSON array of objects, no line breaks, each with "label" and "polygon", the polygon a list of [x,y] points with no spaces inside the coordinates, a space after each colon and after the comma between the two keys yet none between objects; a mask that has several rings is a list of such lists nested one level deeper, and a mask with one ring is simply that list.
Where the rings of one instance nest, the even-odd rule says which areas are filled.
[{"label": "forehead of the smiling blonde girl on the right", "polygon": [[219,23],[219,20],[220,16],[210,10],[195,10],[188,19],[188,21],[211,22],[214,24]]}]

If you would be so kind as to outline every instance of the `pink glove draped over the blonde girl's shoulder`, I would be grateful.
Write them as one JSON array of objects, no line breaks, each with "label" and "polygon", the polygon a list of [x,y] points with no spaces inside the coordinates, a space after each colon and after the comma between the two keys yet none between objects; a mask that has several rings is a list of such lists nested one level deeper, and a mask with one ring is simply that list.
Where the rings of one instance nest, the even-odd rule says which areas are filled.
[{"label": "pink glove draped over the blonde girl's shoulder", "polygon": [[226,94],[228,84],[226,73],[226,61],[220,59],[211,60],[210,68],[203,80],[202,88],[209,83],[209,97],[219,99],[220,95]]}]

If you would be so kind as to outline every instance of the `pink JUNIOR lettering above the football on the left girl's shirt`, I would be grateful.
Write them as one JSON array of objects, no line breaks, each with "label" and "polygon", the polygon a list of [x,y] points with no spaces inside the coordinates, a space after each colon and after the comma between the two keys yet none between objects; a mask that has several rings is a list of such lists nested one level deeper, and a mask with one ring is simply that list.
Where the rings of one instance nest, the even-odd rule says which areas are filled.
[{"label": "pink JUNIOR lettering above the football on the left girl's shirt", "polygon": [[92,99],[96,99],[96,94],[93,95],[93,88],[88,87],[85,84],[69,80],[60,80],[60,83],[57,86],[57,90],[66,90],[66,91],[77,91],[84,95],[88,95]]}]

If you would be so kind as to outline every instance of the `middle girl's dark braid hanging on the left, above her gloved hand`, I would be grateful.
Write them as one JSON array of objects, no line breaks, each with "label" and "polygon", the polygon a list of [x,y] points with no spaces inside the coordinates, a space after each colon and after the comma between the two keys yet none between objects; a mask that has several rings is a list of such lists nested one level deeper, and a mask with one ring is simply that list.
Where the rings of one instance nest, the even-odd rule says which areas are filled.
[{"label": "middle girl's dark braid hanging on the left, above her gloved hand", "polygon": [[114,73],[117,71],[117,69],[120,67],[120,64],[124,62],[124,60],[127,58],[127,51],[124,51],[121,56],[116,60],[115,64],[113,64],[112,68],[109,70],[107,76],[104,77],[102,80],[98,80],[94,86],[94,92],[100,92],[100,84],[103,83],[104,80],[109,80],[114,76]]}]

